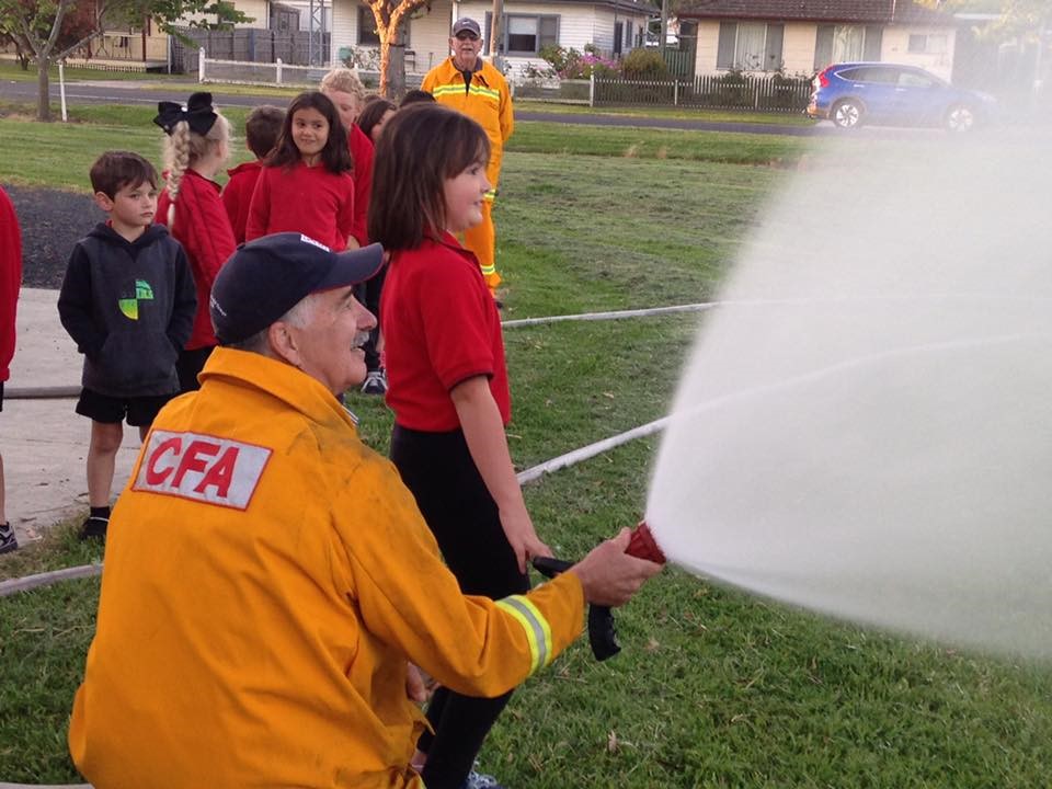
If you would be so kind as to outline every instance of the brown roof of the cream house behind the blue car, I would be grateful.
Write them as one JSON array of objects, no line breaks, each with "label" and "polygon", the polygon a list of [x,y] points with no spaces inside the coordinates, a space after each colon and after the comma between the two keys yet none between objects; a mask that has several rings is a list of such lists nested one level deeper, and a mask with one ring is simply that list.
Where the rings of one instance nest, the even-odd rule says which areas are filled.
[{"label": "brown roof of the cream house behind the blue car", "polygon": [[683,0],[682,19],[953,24],[952,16],[912,0]]}]

